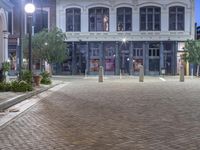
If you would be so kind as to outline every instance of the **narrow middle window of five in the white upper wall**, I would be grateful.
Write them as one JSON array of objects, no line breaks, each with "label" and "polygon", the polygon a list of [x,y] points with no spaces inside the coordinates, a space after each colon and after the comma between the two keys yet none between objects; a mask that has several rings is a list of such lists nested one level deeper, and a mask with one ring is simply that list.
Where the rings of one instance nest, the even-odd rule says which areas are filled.
[{"label": "narrow middle window of five in the white upper wall", "polygon": [[132,8],[117,8],[117,31],[132,30]]}]

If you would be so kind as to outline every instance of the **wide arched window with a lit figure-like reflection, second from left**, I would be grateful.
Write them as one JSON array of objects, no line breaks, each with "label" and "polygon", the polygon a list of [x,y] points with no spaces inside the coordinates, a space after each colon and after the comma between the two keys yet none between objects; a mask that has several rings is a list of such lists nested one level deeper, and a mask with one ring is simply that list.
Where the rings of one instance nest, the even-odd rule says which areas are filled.
[{"label": "wide arched window with a lit figure-like reflection, second from left", "polygon": [[89,31],[109,31],[109,9],[95,7],[89,9]]}]

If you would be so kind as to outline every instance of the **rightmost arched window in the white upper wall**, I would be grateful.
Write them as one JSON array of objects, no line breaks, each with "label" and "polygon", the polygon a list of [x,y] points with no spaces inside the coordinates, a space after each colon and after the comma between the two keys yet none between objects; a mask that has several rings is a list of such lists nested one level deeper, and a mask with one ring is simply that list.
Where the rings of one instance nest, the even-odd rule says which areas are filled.
[{"label": "rightmost arched window in the white upper wall", "polygon": [[173,6],[169,8],[169,30],[184,30],[185,8]]}]

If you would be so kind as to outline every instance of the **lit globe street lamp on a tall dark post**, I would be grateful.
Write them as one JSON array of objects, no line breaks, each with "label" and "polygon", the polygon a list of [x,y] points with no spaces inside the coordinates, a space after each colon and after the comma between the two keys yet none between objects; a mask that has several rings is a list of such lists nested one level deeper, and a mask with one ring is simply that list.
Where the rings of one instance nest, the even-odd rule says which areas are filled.
[{"label": "lit globe street lamp on a tall dark post", "polygon": [[24,7],[25,12],[27,13],[28,17],[28,28],[29,28],[29,71],[32,72],[32,45],[31,45],[31,40],[32,40],[32,15],[35,12],[35,5],[32,3],[28,3]]}]

